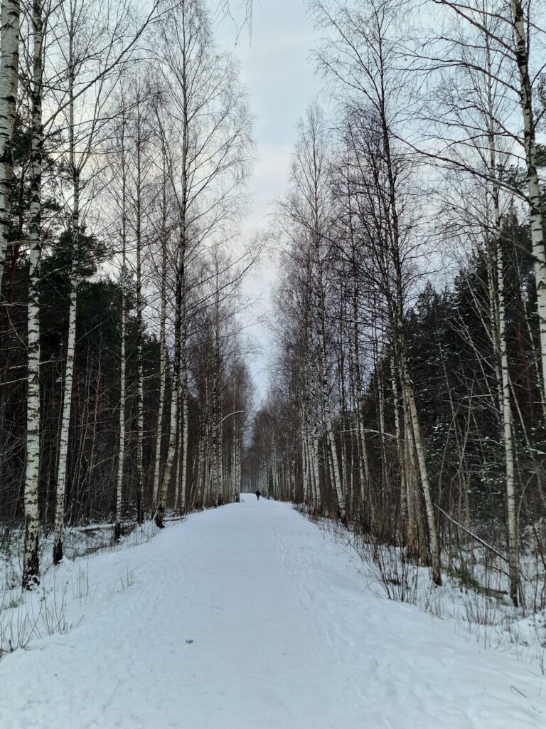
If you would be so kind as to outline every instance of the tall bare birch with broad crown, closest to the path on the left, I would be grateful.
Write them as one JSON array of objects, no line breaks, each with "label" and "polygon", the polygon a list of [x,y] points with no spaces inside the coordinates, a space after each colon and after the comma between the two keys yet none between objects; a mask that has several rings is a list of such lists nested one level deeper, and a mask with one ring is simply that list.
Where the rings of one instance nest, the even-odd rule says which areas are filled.
[{"label": "tall bare birch with broad crown, closest to the path on the left", "polygon": [[[186,266],[203,241],[226,230],[240,209],[241,182],[252,150],[245,93],[231,57],[215,47],[199,0],[182,0],[162,26],[160,71],[168,99],[164,149],[178,208],[173,389],[165,472],[156,504],[162,524],[173,469],[184,345]],[[170,144],[175,133],[177,142]]]}]

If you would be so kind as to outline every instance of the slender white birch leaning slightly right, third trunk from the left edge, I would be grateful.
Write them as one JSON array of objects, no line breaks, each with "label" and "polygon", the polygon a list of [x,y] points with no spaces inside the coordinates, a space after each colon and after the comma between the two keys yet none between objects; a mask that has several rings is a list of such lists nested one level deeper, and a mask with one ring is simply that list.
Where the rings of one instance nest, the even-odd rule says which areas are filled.
[{"label": "slender white birch leaning slightly right, third trunk from the left edge", "polygon": [[[65,34],[59,39],[60,54],[66,59],[66,86],[58,87],[58,109],[52,115],[64,117],[68,133],[68,168],[71,171],[71,251],[68,343],[64,373],[63,416],[60,427],[60,454],[55,506],[54,563],[63,558],[63,521],[68,462],[68,439],[76,343],[76,308],[79,260],[82,257],[82,183],[84,168],[89,165],[100,144],[103,121],[111,93],[146,27],[157,17],[164,3],[155,1],[143,23],[134,28],[128,4],[120,0],[112,12],[103,13],[93,0],[69,0],[60,7]],[[138,236],[137,236],[138,237]],[[141,297],[138,297],[141,312]],[[141,315],[140,315],[141,316]],[[141,394],[141,389],[139,389]],[[139,402],[142,398],[139,397]],[[142,405],[139,408],[142,421]],[[139,451],[140,453],[140,451]],[[141,464],[141,459],[139,459]],[[138,490],[138,515],[142,520],[142,468]]]}]

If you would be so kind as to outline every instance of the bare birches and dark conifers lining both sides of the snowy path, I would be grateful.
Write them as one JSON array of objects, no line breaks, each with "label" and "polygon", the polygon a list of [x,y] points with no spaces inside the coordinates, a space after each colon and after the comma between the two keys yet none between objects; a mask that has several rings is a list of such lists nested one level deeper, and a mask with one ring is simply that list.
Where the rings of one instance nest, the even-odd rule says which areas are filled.
[{"label": "bare birches and dark conifers lining both sides of the snowy path", "polygon": [[67,524],[119,539],[243,488],[438,585],[486,561],[544,609],[539,4],[309,1],[328,94],[262,239],[258,409],[250,102],[215,8],[132,6],[1,4],[0,519],[23,585],[43,534],[58,562]]}]

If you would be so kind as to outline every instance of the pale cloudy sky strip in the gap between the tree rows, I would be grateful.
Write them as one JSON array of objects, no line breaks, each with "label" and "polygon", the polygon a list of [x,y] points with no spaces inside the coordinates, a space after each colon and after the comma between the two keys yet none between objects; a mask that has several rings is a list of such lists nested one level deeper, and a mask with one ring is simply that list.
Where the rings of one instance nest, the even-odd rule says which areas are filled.
[{"label": "pale cloudy sky strip in the gap between the tree rows", "polygon": [[[218,28],[218,40],[240,59],[242,81],[256,117],[258,162],[250,183],[253,204],[245,220],[245,230],[251,234],[267,227],[272,201],[285,192],[298,119],[322,87],[310,58],[313,24],[306,17],[304,0],[254,0],[252,35],[244,29],[235,47],[237,30],[225,20]],[[248,294],[260,297],[252,308],[253,318],[269,310],[274,275],[273,262],[264,260],[247,282]],[[253,324],[248,331],[263,349],[260,356],[250,357],[249,364],[259,394],[264,395],[271,335],[264,324]]]}]

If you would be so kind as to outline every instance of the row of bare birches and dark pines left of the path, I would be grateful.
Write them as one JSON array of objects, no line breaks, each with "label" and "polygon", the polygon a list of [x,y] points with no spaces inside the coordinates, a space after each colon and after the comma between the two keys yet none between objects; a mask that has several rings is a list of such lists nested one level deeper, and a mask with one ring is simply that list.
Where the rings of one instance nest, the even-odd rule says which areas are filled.
[{"label": "row of bare birches and dark pines left of the path", "polygon": [[239,499],[252,122],[201,0],[1,3],[0,519]]}]

